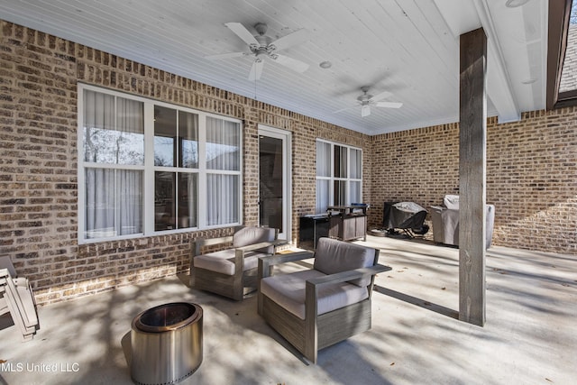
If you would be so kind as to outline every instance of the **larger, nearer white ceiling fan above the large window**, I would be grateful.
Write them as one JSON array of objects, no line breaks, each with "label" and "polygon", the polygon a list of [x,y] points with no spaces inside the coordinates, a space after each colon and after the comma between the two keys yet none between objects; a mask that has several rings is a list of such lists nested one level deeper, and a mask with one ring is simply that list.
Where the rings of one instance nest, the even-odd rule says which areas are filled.
[{"label": "larger, nearer white ceiling fan above the large window", "polygon": [[252,35],[252,32],[249,32],[241,23],[224,23],[224,25],[226,25],[232,32],[234,32],[239,38],[247,43],[251,51],[229,52],[219,55],[210,55],[206,56],[206,59],[219,60],[252,55],[254,56],[254,61],[252,62],[249,80],[258,80],[261,78],[265,58],[274,60],[279,64],[299,73],[302,73],[308,69],[307,63],[277,53],[279,50],[286,50],[293,45],[306,41],[308,37],[307,30],[298,30],[297,32],[289,33],[288,35],[283,36],[277,40],[272,40],[270,36],[266,35],[268,26],[265,23],[256,23],[254,25],[254,29],[258,33],[254,36]]}]

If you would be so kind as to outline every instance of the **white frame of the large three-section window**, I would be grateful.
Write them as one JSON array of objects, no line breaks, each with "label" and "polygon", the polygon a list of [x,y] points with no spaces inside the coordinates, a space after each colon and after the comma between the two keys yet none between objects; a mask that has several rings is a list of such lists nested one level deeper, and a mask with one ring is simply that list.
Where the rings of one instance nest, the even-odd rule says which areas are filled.
[{"label": "white frame of the large three-section window", "polygon": [[[120,96],[126,99],[142,102],[144,105],[144,165],[143,166],[127,166],[114,164],[96,164],[84,161],[84,91],[91,90],[107,95]],[[154,105],[160,105],[167,108],[175,109],[177,111],[184,111],[198,116],[198,168],[187,169],[188,172],[194,172],[198,175],[198,207],[197,207],[197,227],[187,227],[171,230],[155,231],[154,229],[154,172],[157,170],[167,170],[169,172],[182,172],[183,169],[178,167],[160,168],[154,166]],[[216,119],[234,122],[239,127],[239,170],[207,170],[206,169],[206,118],[208,116]],[[78,243],[97,243],[104,241],[115,241],[131,238],[142,238],[151,235],[165,235],[188,233],[191,231],[206,230],[213,228],[231,227],[234,225],[242,225],[243,222],[243,121],[240,119],[231,118],[229,116],[217,115],[198,111],[192,108],[181,105],[174,105],[167,102],[160,102],[158,100],[134,96],[124,92],[114,91],[103,87],[91,86],[83,83],[78,83]],[[101,238],[86,238],[85,237],[85,205],[86,205],[86,188],[85,188],[85,170],[89,167],[106,168],[106,169],[130,169],[142,170],[142,233],[115,235]],[[185,172],[186,172],[185,171]],[[238,176],[238,212],[236,214],[238,221],[224,225],[206,225],[206,191],[207,182],[206,175],[212,173],[219,173],[225,175]]]}]

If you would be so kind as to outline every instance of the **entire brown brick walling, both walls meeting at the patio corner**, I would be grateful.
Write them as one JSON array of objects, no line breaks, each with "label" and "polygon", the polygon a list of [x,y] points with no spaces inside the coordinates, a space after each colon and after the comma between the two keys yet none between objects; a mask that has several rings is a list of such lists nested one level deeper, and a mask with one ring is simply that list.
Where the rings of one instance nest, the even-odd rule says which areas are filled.
[{"label": "entire brown brick walling, both walls meeting at the patio corner", "polygon": [[[258,124],[292,133],[292,234],[315,211],[316,138],[363,151],[371,225],[382,202],[441,201],[458,186],[458,125],[370,137],[160,69],[0,21],[0,254],[32,281],[40,304],[188,270],[190,243],[232,229],[79,245],[77,85],[101,87],[243,120],[243,222],[258,223]],[[495,243],[577,253],[577,112],[489,125],[488,200]]]}]

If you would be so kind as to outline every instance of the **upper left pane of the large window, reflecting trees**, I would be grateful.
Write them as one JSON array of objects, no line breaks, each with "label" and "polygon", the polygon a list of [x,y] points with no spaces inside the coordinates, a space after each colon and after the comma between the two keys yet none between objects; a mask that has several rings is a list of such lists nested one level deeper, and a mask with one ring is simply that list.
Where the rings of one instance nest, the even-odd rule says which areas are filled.
[{"label": "upper left pane of the large window, reflecting trees", "polygon": [[85,90],[84,160],[144,164],[143,108],[141,102]]}]

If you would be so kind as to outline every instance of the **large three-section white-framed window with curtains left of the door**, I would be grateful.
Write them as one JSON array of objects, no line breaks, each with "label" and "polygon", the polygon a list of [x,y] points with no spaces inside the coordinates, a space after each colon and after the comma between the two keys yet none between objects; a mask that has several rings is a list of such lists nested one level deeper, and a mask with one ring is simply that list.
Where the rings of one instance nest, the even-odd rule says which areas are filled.
[{"label": "large three-section white-framed window with curtains left of the door", "polygon": [[78,240],[240,225],[235,119],[78,86]]}]

